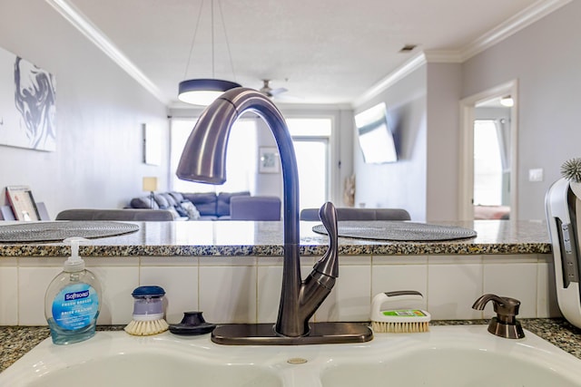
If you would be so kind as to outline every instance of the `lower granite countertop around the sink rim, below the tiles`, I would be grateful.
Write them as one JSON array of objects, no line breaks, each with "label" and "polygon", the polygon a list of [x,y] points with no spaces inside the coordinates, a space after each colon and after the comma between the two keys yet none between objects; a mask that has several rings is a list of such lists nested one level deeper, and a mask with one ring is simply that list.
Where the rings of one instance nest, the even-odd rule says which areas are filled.
[{"label": "lower granite countertop around the sink rim, below the tiles", "polygon": [[[564,319],[521,319],[523,327],[581,359],[581,329]],[[485,320],[432,321],[432,325],[487,324]],[[98,326],[97,330],[122,330],[123,326]],[[0,327],[0,372],[50,335],[46,326]]]}]

